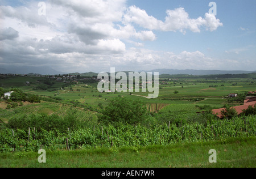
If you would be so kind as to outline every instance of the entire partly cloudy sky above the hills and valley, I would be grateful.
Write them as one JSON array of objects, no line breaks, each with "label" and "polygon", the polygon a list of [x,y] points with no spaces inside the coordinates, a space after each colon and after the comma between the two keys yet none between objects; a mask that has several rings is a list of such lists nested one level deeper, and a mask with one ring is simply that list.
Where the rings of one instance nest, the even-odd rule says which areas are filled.
[{"label": "entire partly cloudy sky above the hills and valley", "polygon": [[0,0],[0,68],[254,71],[255,8],[255,0]]}]

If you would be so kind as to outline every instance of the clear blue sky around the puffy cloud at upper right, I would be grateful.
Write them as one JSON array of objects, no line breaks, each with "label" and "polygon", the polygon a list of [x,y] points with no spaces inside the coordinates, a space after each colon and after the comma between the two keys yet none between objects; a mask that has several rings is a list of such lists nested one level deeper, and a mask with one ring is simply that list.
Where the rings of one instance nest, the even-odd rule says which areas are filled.
[{"label": "clear blue sky around the puffy cloud at upper right", "polygon": [[[164,20],[167,9],[178,7],[184,7],[191,18],[204,16],[209,11],[209,2],[212,1],[132,0],[129,1],[129,5],[138,6],[146,10],[148,15]],[[224,24],[223,27],[214,32],[188,32],[186,35],[179,32],[155,32],[158,40],[149,44],[148,47],[158,50],[173,49],[176,53],[183,50],[200,50],[208,53],[208,48],[210,48],[221,53],[225,50],[255,45],[256,1],[226,0],[214,2],[217,3],[217,18]]]}]

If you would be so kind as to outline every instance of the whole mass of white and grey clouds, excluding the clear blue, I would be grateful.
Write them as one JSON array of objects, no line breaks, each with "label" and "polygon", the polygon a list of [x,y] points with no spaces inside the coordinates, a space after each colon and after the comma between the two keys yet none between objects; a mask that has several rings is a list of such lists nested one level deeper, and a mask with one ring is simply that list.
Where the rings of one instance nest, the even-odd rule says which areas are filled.
[{"label": "whole mass of white and grey clouds, excluding the clear blue", "polygon": [[167,10],[162,21],[126,3],[49,0],[46,16],[38,15],[38,1],[0,6],[0,65],[51,66],[68,73],[109,71],[114,66],[119,70],[217,67],[216,59],[199,51],[174,54],[143,47],[157,40],[156,32],[216,31],[223,25],[216,16],[206,13],[192,19],[180,7]]}]

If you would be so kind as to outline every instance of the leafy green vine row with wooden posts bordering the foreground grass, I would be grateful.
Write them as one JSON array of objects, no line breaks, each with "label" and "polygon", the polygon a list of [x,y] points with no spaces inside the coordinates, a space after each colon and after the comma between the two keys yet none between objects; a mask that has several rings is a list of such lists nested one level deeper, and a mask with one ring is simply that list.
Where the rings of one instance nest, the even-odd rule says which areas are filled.
[{"label": "leafy green vine row with wooden posts bordering the foreground grass", "polygon": [[255,116],[237,117],[233,120],[213,120],[205,123],[185,123],[177,126],[154,125],[119,127],[88,126],[81,129],[67,128],[65,132],[29,129],[0,130],[0,151],[71,150],[98,147],[125,147],[168,145],[177,142],[205,142],[239,137],[256,136]]}]

